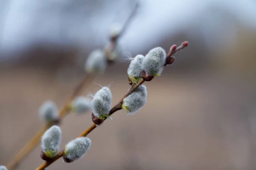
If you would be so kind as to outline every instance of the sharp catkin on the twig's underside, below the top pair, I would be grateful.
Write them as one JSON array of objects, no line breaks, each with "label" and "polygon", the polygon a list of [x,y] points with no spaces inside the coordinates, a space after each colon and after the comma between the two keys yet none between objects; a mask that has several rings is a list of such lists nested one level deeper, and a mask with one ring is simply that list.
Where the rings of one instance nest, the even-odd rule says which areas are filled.
[{"label": "sharp catkin on the twig's underside, below the top pair", "polygon": [[122,109],[124,109],[127,114],[134,114],[145,105],[146,101],[146,86],[140,85],[133,93],[123,99]]}]

